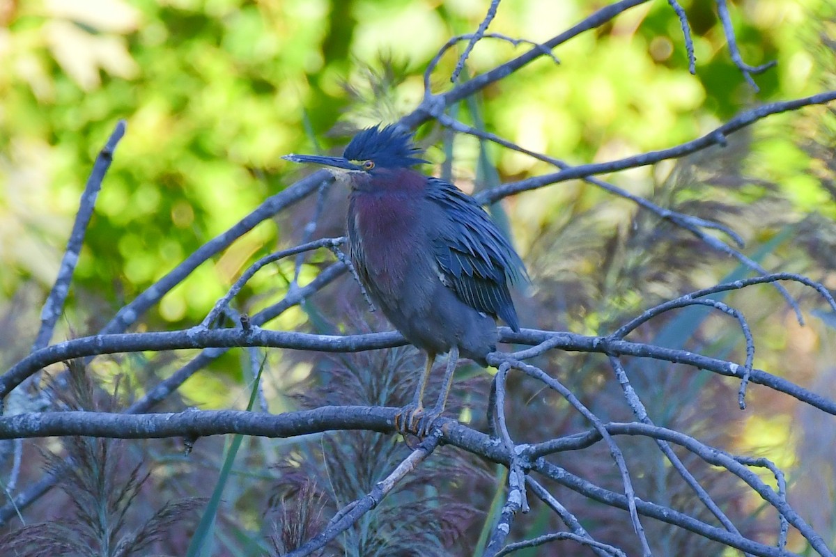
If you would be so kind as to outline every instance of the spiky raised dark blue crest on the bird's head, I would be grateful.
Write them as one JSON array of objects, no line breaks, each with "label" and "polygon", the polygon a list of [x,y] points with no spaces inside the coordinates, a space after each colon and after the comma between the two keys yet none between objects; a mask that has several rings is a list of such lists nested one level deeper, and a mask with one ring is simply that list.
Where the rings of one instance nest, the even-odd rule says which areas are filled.
[{"label": "spiky raised dark blue crest on the bird's head", "polygon": [[422,152],[412,143],[412,134],[401,132],[396,124],[390,124],[359,132],[351,139],[343,156],[351,161],[373,160],[379,167],[410,167],[430,162],[416,156]]}]

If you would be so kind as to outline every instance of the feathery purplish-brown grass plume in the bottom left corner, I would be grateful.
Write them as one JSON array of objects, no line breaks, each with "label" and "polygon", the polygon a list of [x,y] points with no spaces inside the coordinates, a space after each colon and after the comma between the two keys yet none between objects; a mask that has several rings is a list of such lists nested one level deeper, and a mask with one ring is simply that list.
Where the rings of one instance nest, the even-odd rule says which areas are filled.
[{"label": "feathery purplish-brown grass plume in the bottom left corner", "polygon": [[[82,362],[67,362],[68,381],[59,393],[59,408],[91,412],[117,410],[119,382],[104,393]],[[74,555],[130,557],[149,554],[153,544],[181,528],[200,499],[163,504],[150,518],[134,516],[143,485],[150,478],[141,460],[120,439],[62,438],[65,454],[43,450],[44,468],[59,477],[70,510],[59,519],[29,524],[0,538],[0,547],[16,557]],[[65,461],[66,458],[66,461]],[[68,463],[69,462],[69,463]]]}]

